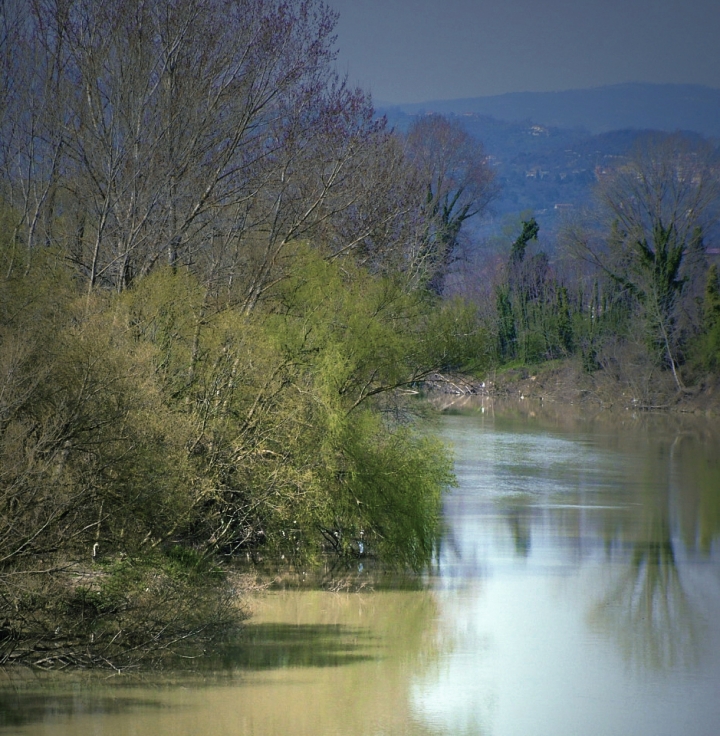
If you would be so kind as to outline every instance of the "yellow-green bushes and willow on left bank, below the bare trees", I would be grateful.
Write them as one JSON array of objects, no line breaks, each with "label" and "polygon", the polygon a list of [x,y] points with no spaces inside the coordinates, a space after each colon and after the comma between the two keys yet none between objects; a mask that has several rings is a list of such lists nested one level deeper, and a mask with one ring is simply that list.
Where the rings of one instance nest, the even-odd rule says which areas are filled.
[{"label": "yellow-green bushes and willow on left bank, below the bare trees", "polygon": [[406,388],[477,365],[487,335],[462,302],[292,258],[250,313],[184,269],[91,295],[51,250],[5,271],[0,608],[18,640],[120,661],[229,621],[222,556],[430,561],[451,459]]}]

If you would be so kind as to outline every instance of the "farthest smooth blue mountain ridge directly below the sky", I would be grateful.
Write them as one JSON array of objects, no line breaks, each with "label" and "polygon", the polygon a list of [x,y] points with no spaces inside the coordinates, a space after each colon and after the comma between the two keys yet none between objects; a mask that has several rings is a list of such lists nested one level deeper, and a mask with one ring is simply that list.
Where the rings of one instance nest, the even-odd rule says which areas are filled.
[{"label": "farthest smooth blue mountain ridge directly below the sky", "polygon": [[407,115],[471,113],[512,122],[532,120],[558,128],[583,128],[590,133],[635,128],[687,130],[720,138],[720,89],[690,84],[617,84],[378,107]]}]

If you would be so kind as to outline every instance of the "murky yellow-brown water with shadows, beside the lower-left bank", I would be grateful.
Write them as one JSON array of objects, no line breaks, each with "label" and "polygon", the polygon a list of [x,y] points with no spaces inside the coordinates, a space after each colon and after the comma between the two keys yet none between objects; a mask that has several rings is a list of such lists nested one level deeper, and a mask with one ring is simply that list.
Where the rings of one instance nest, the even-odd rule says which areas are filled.
[{"label": "murky yellow-brown water with shadows, beside the lower-left bank", "polygon": [[[0,708],[15,702],[16,717],[0,722],[0,732],[15,725],[13,734],[52,736],[437,733],[413,714],[408,687],[436,667],[440,652],[427,588],[280,590],[253,605],[245,635],[194,673],[8,683],[16,695],[6,687]],[[48,692],[48,683],[60,691]]]}]

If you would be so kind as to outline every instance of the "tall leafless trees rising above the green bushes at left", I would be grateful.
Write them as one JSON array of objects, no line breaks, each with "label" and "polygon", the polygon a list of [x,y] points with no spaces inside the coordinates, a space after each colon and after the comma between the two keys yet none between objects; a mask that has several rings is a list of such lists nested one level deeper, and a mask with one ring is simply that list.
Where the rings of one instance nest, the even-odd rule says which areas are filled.
[{"label": "tall leafless trees rising above the green bushes at left", "polygon": [[390,256],[413,189],[368,95],[334,69],[327,6],[44,0],[0,13],[0,63],[18,70],[2,90],[3,196],[28,247],[42,226],[88,292],[168,262],[251,311],[293,241]]}]

